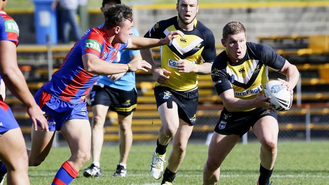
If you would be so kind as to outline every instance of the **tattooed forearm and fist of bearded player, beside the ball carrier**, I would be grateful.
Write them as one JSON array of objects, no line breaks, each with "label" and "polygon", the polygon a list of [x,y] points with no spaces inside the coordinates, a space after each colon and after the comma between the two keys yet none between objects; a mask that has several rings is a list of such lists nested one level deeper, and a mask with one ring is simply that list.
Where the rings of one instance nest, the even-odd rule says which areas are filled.
[{"label": "tattooed forearm and fist of bearded player, beside the ball carrier", "polygon": [[196,74],[205,75],[211,73],[212,65],[212,62],[205,62],[203,64],[192,64],[186,60],[179,60],[177,63],[177,69],[178,72],[181,73],[195,72]]}]

